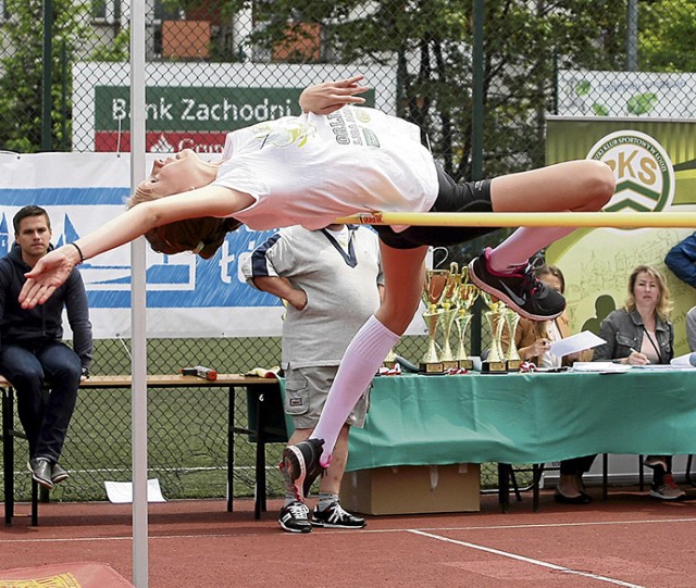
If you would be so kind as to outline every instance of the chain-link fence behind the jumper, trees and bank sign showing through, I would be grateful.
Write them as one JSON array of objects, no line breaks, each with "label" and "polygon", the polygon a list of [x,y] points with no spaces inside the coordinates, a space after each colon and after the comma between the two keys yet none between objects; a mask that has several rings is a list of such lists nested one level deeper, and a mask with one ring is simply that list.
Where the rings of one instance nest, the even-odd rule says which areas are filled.
[{"label": "chain-link fence behind the jumper, trees and bank sign showing through", "polygon": [[[0,0],[0,150],[129,150],[129,11],[127,0]],[[227,132],[298,114],[307,85],[355,73],[373,88],[369,104],[423,128],[456,179],[543,165],[549,114],[696,114],[693,0],[148,0],[146,20],[148,151],[220,152]],[[452,248],[448,263],[506,234]],[[485,325],[472,333],[472,350],[485,349]],[[411,337],[397,351],[418,361],[424,346]],[[127,373],[126,347],[98,341],[94,372]],[[149,341],[151,373],[278,360],[271,338]],[[170,497],[224,496],[226,393],[151,393],[152,475]],[[253,447],[237,451],[250,466]],[[80,392],[64,461],[76,474],[55,498],[99,498],[103,479],[129,477],[127,395]]]}]

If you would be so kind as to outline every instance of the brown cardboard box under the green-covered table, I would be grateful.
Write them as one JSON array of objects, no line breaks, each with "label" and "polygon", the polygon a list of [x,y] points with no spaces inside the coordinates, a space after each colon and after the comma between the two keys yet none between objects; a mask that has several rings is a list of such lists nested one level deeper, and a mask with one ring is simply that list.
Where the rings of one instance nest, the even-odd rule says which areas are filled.
[{"label": "brown cardboard box under the green-covered table", "polygon": [[347,472],[341,505],[362,514],[481,510],[478,464],[400,465]]}]

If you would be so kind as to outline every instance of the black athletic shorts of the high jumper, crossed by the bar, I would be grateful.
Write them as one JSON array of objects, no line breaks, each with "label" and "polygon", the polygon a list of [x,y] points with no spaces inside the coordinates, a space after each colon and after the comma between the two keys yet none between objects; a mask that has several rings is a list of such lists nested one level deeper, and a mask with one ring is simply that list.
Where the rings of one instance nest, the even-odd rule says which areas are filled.
[{"label": "black athletic shorts of the high jumper, crossed by the bar", "polygon": [[[438,165],[436,168],[439,188],[430,212],[493,212],[489,179],[457,184]],[[422,245],[447,247],[497,230],[495,227],[412,226],[401,233],[395,233],[388,225],[375,225],[374,229],[382,241],[395,249],[414,249]]]}]

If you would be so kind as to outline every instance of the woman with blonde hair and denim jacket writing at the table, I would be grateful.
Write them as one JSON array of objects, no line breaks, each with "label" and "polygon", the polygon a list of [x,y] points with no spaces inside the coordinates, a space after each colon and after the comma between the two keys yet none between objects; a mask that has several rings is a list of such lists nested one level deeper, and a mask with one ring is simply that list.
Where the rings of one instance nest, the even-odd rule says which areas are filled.
[{"label": "woman with blonde hair and denim jacket writing at the table", "polygon": [[[629,276],[629,297],[601,323],[606,341],[595,349],[593,361],[617,361],[629,365],[670,363],[674,355],[674,328],[670,322],[670,290],[661,272],[638,265]],[[676,500],[684,492],[674,484],[671,455],[648,455],[652,468],[650,496]]]}]

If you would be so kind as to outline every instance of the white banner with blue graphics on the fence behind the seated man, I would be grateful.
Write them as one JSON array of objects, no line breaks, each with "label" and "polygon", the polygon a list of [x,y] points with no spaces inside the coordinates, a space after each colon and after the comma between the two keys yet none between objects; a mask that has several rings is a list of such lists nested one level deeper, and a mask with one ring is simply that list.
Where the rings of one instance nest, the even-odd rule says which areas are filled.
[{"label": "white banner with blue graphics on the fence behind the seated man", "polygon": [[[98,230],[124,211],[130,191],[129,167],[127,154],[0,153],[0,254],[12,247],[12,218],[27,204],[48,211],[57,247]],[[279,336],[281,302],[249,287],[239,273],[240,260],[273,233],[243,225],[227,235],[208,261],[191,253],[164,255],[148,248],[148,337]],[[95,338],[129,338],[129,246],[97,255],[79,270]],[[67,325],[65,331],[70,336]],[[409,334],[423,333],[417,315]]]}]

